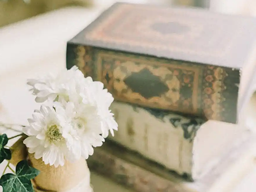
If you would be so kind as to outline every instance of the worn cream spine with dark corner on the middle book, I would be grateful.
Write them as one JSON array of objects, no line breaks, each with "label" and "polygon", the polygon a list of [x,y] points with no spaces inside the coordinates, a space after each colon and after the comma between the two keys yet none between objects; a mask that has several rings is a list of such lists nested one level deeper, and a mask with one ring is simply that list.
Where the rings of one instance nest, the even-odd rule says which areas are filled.
[{"label": "worn cream spine with dark corner on the middle book", "polygon": [[116,101],[110,109],[118,123],[111,140],[192,178],[194,139],[204,120]]}]

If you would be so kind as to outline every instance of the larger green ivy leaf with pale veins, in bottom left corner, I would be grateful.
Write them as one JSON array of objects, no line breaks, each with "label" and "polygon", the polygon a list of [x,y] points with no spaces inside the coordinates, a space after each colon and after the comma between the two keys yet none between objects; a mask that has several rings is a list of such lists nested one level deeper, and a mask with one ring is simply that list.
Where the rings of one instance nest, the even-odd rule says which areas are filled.
[{"label": "larger green ivy leaf with pale veins, in bottom left corner", "polygon": [[16,174],[5,174],[0,179],[3,192],[33,192],[31,179],[39,174],[39,170],[29,166],[26,160],[16,166]]}]

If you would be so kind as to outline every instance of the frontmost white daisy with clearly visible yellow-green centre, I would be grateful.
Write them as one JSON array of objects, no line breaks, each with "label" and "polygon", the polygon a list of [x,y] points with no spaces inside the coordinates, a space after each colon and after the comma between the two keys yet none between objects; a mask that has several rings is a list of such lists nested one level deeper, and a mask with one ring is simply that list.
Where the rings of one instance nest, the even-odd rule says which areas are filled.
[{"label": "frontmost white daisy with clearly visible yellow-green centre", "polygon": [[[62,113],[63,114],[63,113]],[[42,158],[45,164],[64,165],[65,158],[72,159],[72,154],[62,136],[69,130],[67,117],[58,114],[54,108],[42,105],[39,111],[33,113],[29,125],[23,132],[29,137],[24,143],[29,148],[29,153],[34,153],[36,159]]]}]

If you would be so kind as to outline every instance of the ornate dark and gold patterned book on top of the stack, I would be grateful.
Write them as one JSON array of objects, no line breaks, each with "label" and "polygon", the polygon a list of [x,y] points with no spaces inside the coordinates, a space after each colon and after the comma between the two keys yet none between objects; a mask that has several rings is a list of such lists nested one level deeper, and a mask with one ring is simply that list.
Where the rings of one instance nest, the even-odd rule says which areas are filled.
[{"label": "ornate dark and gold patterned book on top of the stack", "polygon": [[67,68],[116,100],[238,123],[251,96],[256,19],[116,3],[68,42]]}]

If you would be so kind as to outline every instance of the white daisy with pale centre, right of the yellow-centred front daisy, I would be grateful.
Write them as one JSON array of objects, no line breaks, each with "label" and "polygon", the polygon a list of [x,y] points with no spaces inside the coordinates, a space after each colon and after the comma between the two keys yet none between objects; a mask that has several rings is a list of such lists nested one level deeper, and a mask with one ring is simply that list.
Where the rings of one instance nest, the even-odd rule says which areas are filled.
[{"label": "white daisy with pale centre, right of the yellow-centred front daisy", "polygon": [[65,106],[71,126],[63,137],[67,138],[67,146],[76,159],[88,159],[89,155],[93,155],[93,147],[101,146],[104,141],[97,108],[84,103],[75,105],[73,102],[67,102]]}]

